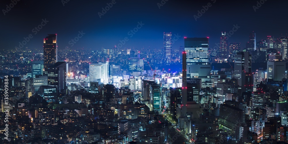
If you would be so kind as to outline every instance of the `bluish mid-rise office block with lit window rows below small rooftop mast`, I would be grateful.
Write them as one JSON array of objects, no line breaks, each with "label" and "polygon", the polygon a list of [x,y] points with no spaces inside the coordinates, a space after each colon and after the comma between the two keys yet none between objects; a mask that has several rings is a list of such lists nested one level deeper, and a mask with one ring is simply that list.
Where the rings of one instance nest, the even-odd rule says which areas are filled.
[{"label": "bluish mid-rise office block with lit window rows below small rooftop mast", "polygon": [[140,58],[140,54],[138,54],[137,58],[129,58],[129,71],[130,72],[143,72],[144,71],[144,63],[143,59]]}]

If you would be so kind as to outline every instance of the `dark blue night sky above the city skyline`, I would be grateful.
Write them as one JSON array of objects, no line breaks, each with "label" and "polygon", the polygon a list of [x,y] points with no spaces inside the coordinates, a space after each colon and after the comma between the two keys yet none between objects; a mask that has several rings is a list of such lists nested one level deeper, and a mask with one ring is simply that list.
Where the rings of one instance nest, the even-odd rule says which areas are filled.
[{"label": "dark blue night sky above the city skyline", "polygon": [[[176,50],[184,45],[184,37],[210,37],[209,45],[213,48],[220,41],[221,32],[231,31],[236,24],[240,28],[229,37],[228,42],[240,42],[242,48],[245,48],[251,31],[256,33],[256,41],[266,39],[267,35],[278,38],[288,33],[288,1],[258,0],[264,3],[255,12],[253,5],[257,7],[257,0],[168,0],[163,6],[157,5],[161,0],[115,0],[116,3],[101,18],[98,12],[102,12],[106,3],[112,0],[66,0],[68,2],[65,1],[64,6],[62,1],[20,0],[4,16],[2,9],[6,10],[6,5],[12,2],[1,0],[1,49],[15,49],[29,34],[33,38],[24,47],[30,49],[43,48],[43,39],[47,34],[56,33],[58,49],[69,46],[71,49],[100,50],[118,45],[125,37],[129,40],[122,48],[160,49],[163,47],[163,32],[172,32],[175,39],[174,34],[179,35],[172,45]],[[194,15],[208,3],[211,7],[196,21]],[[49,22],[35,34],[32,30],[41,24],[42,19]],[[137,27],[138,22],[144,25],[130,37],[128,32]],[[85,34],[71,47],[69,41],[77,37],[79,31]]]}]

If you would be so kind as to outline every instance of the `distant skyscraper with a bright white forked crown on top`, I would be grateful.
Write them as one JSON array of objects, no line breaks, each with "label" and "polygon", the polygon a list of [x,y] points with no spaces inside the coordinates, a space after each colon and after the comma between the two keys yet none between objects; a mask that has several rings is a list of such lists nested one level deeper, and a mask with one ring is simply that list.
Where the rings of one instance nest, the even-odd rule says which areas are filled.
[{"label": "distant skyscraper with a bright white forked crown on top", "polygon": [[222,32],[221,38],[220,38],[220,47],[219,47],[219,58],[221,60],[228,59],[230,51],[228,50],[228,37],[226,36],[226,32]]}]

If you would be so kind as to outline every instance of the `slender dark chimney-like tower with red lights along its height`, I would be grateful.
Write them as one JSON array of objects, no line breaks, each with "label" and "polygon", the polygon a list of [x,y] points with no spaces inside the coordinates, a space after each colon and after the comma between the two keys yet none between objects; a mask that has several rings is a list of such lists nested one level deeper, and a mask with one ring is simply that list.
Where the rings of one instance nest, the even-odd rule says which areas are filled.
[{"label": "slender dark chimney-like tower with red lights along its height", "polygon": [[186,52],[182,52],[182,114],[187,113],[187,64],[186,64]]}]

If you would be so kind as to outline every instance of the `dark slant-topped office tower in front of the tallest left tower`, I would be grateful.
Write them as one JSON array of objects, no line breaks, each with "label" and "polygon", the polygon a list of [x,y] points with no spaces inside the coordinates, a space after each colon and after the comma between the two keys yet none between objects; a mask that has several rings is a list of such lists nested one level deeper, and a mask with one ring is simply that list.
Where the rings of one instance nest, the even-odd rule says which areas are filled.
[{"label": "dark slant-topped office tower in front of the tallest left tower", "polygon": [[56,86],[58,93],[64,93],[67,88],[66,62],[56,62],[47,67],[48,86]]}]

